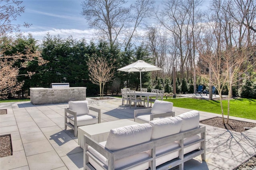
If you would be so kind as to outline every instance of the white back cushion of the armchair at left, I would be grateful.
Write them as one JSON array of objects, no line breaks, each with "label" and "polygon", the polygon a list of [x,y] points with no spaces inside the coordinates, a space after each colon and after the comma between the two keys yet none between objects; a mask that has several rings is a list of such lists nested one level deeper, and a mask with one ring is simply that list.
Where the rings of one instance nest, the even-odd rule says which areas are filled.
[{"label": "white back cushion of the armchair at left", "polygon": [[69,101],[68,107],[70,110],[75,111],[76,115],[89,114],[88,101]]}]

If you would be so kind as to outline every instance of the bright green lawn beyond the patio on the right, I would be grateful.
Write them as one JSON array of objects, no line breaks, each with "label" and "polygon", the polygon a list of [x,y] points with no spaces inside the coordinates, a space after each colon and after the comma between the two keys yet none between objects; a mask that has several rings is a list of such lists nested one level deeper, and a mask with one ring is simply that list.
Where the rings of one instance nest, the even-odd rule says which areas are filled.
[{"label": "bright green lawn beyond the patio on the right", "polygon": [[[221,114],[220,101],[191,98],[164,99],[164,101],[172,102],[174,107]],[[228,101],[224,100],[222,103],[224,115],[227,115]],[[256,120],[256,99],[230,100],[230,116]]]}]

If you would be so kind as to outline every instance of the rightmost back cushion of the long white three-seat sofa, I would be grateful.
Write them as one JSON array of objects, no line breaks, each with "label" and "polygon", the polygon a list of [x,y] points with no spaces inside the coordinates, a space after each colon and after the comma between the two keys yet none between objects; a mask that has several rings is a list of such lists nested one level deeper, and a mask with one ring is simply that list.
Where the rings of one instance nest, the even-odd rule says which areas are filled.
[{"label": "rightmost back cushion of the long white three-seat sofa", "polygon": [[200,115],[198,111],[189,111],[178,115],[177,117],[182,119],[181,132],[199,127]]}]

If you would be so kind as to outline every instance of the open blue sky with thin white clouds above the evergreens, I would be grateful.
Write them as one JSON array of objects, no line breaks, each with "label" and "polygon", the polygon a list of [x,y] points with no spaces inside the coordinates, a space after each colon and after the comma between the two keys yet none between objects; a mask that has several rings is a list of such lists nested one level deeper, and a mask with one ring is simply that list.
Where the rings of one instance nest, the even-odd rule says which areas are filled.
[{"label": "open blue sky with thin white clouds above the evergreens", "polygon": [[[204,3],[208,4],[207,0]],[[29,28],[21,28],[21,32],[25,36],[31,33],[36,40],[42,40],[50,33],[61,38],[70,35],[74,39],[86,38],[89,42],[94,30],[89,28],[82,16],[81,4],[82,0],[23,0],[25,12],[18,16],[14,24],[32,24]]]}]

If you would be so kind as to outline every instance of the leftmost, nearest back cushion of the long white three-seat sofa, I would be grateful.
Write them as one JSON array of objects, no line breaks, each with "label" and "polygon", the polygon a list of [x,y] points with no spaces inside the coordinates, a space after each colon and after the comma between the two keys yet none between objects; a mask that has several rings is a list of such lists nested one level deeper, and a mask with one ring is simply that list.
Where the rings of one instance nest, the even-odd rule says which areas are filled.
[{"label": "leftmost, nearest back cushion of the long white three-seat sofa", "polygon": [[148,123],[111,129],[105,147],[119,150],[150,141],[152,126]]}]

